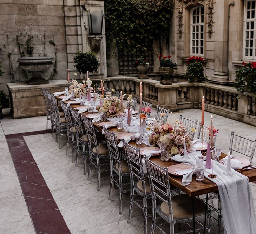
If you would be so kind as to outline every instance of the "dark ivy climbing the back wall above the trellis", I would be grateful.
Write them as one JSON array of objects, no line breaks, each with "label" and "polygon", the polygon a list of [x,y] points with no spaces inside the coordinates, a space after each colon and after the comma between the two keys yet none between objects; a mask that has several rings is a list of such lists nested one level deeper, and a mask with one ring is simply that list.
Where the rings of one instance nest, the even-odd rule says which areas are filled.
[{"label": "dark ivy climbing the back wall above the trellis", "polygon": [[169,35],[173,0],[105,0],[107,47],[148,54],[152,41]]}]

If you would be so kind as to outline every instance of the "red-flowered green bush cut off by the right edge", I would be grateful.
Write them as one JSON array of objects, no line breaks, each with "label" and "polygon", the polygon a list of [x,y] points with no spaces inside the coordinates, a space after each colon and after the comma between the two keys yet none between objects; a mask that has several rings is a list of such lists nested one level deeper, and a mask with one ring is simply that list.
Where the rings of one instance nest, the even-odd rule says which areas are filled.
[{"label": "red-flowered green bush cut off by the right edge", "polygon": [[243,93],[245,87],[249,93],[256,94],[256,62],[243,62],[243,67],[236,71],[235,88]]}]

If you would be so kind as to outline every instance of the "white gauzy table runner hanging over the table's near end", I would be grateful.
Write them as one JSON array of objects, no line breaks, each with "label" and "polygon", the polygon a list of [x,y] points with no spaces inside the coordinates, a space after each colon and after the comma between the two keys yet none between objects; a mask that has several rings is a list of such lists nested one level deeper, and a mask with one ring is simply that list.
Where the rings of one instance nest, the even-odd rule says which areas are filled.
[{"label": "white gauzy table runner hanging over the table's near end", "polygon": [[[182,159],[180,155],[175,155],[172,159],[195,165],[193,164],[195,163],[194,153],[191,153],[193,155],[189,154],[188,159]],[[223,172],[227,167],[216,161],[213,161],[213,163],[213,174],[217,175],[218,178],[211,179],[208,177],[212,173],[212,169],[205,169],[204,176],[218,186],[222,204],[224,232],[232,234],[256,233],[255,209],[248,177],[234,169],[231,169],[232,177],[225,176]],[[183,175],[182,183],[190,183],[192,181],[192,174],[193,171]]]}]

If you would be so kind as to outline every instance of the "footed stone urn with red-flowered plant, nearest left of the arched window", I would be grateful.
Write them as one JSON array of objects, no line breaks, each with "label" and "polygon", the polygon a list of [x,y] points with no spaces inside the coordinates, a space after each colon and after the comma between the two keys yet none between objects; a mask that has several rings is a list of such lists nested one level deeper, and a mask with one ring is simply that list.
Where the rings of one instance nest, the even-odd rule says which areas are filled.
[{"label": "footed stone urn with red-flowered plant, nearest left of the arched window", "polygon": [[158,59],[160,61],[159,73],[163,76],[161,79],[162,85],[171,85],[172,81],[170,75],[173,74],[174,70],[177,69],[177,63],[172,62],[171,56],[159,55]]}]

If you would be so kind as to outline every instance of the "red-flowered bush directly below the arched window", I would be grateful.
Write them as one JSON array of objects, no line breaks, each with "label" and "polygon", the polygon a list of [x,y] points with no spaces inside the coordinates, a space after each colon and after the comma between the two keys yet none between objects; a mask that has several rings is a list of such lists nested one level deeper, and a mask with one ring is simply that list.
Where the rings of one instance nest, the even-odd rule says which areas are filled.
[{"label": "red-flowered bush directly below the arched window", "polygon": [[198,56],[192,56],[188,58],[188,68],[184,76],[188,82],[199,82],[207,80],[207,76],[204,75],[204,59]]}]

